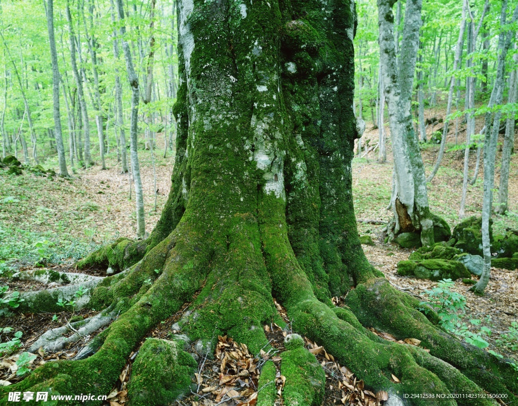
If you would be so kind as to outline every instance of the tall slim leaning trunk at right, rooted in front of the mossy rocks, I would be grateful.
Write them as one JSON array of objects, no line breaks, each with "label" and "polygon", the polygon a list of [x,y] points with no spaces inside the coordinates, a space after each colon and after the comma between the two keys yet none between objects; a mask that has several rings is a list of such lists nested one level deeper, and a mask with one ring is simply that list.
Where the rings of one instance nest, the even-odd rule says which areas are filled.
[{"label": "tall slim leaning trunk at right, rooted in front of the mossy rocks", "polygon": [[[505,27],[507,22],[507,0],[502,0],[502,9],[500,13],[500,26]],[[513,16],[509,24],[512,24],[518,20],[518,5],[516,5]],[[495,85],[491,95],[493,104],[499,105],[502,103],[503,88],[505,86],[504,75],[505,75],[505,64],[507,51],[511,46],[511,40],[514,37],[514,31],[502,30],[498,36],[498,64],[496,70]],[[486,132],[484,137],[484,200],[482,202],[482,251],[484,253],[484,267],[482,274],[476,285],[472,287],[472,290],[482,295],[489,282],[491,273],[491,242],[489,234],[489,225],[491,219],[491,211],[493,206],[493,184],[495,180],[495,155],[496,155],[496,144],[498,141],[498,130],[500,128],[501,110],[495,112],[492,117],[491,109],[485,115],[485,126]],[[493,123],[492,123],[493,121]],[[492,125],[492,126],[491,126]]]}]

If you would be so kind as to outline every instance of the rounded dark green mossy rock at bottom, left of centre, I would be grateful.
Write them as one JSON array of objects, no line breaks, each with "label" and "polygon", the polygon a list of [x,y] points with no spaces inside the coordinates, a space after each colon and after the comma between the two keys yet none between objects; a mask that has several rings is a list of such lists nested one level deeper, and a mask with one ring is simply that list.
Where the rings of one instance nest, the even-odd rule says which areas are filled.
[{"label": "rounded dark green mossy rock at bottom, left of centre", "polygon": [[135,358],[128,383],[131,406],[165,405],[189,391],[197,367],[191,354],[174,341],[147,339]]}]

